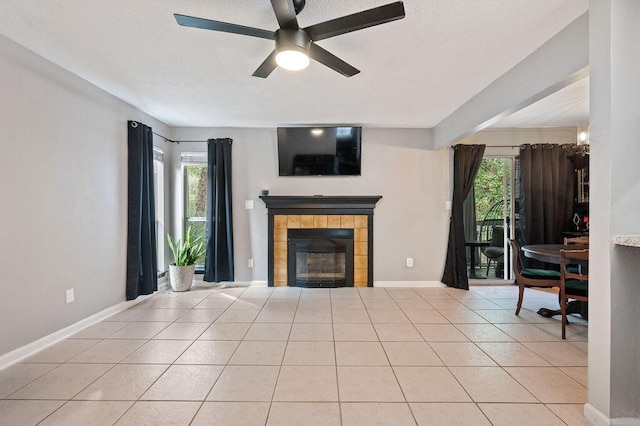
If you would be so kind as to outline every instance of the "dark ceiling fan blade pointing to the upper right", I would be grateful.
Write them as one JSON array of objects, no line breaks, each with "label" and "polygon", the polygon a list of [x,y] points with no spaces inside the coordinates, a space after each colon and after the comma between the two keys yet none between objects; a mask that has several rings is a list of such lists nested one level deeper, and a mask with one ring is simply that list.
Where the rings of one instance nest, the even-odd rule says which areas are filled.
[{"label": "dark ceiling fan blade pointing to the upper right", "polygon": [[404,18],[404,4],[401,1],[376,7],[331,21],[321,22],[304,28],[311,40],[319,41],[340,34],[362,30]]}]

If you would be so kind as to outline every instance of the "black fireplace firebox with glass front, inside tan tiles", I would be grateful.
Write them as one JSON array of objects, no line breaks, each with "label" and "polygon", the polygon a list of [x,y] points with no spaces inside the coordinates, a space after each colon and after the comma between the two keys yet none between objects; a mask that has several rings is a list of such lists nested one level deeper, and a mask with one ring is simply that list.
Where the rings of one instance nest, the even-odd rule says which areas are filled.
[{"label": "black fireplace firebox with glass front, inside tan tiles", "polygon": [[289,229],[288,283],[353,287],[353,229]]}]

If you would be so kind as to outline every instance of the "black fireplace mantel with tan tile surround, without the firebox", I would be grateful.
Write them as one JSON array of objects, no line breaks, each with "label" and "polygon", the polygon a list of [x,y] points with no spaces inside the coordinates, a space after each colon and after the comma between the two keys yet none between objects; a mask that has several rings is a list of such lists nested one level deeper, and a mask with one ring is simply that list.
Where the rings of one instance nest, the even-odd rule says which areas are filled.
[{"label": "black fireplace mantel with tan tile surround, without the firebox", "polygon": [[269,286],[289,285],[289,229],[352,229],[354,279],[348,285],[373,286],[373,209],[381,195],[260,197],[268,208]]}]

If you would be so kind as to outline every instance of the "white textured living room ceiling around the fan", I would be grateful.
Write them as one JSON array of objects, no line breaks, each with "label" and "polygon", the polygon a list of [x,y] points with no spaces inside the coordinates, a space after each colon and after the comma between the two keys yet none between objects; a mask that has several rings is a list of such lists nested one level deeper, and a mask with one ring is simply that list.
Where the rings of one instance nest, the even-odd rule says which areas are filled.
[{"label": "white textured living room ceiling around the fan", "polygon": [[[391,0],[307,0],[302,27]],[[433,127],[588,9],[588,0],[405,0],[406,18],[251,77],[270,40],[180,27],[173,13],[275,30],[268,0],[2,0],[0,34],[175,126]]]}]

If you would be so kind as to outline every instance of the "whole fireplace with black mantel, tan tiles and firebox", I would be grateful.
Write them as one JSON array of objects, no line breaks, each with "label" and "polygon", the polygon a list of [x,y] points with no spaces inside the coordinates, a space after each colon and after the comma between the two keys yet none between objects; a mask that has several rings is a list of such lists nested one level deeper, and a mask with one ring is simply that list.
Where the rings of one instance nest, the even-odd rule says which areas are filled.
[{"label": "whole fireplace with black mantel, tan tiles and firebox", "polygon": [[269,286],[373,286],[376,196],[261,196]]}]

